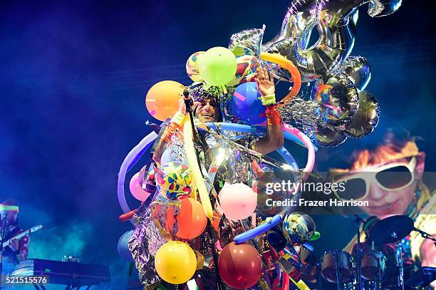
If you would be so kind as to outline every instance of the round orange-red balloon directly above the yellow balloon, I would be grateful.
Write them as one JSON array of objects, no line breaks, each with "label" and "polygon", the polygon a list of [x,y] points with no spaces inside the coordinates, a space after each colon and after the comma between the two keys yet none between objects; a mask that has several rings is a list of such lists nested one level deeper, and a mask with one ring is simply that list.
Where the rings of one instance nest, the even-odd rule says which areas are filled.
[{"label": "round orange-red balloon directly above the yellow balloon", "polygon": [[175,234],[181,239],[198,237],[207,224],[207,217],[201,203],[191,197],[182,200],[180,213],[176,217],[178,230]]}]

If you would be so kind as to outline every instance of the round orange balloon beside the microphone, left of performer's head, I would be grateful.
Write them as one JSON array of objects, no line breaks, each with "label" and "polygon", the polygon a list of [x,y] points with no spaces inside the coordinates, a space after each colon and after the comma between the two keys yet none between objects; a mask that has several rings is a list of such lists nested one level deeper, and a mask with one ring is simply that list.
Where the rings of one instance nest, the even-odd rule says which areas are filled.
[{"label": "round orange balloon beside the microphone, left of performer's head", "polygon": [[179,108],[179,99],[183,97],[185,87],[177,81],[160,81],[148,90],[145,106],[154,118],[165,121],[172,118]]}]

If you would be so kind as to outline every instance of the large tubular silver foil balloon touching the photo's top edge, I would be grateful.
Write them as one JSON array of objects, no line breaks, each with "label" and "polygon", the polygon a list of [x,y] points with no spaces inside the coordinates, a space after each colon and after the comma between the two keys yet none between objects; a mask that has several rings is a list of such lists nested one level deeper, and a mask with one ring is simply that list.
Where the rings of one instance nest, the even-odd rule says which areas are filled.
[{"label": "large tubular silver foil balloon touching the photo's top edge", "polygon": [[[297,4],[300,2],[306,3],[306,1],[296,1]],[[308,4],[302,5],[300,8],[311,11],[309,4],[313,5],[313,3],[315,2],[308,1]],[[280,53],[293,61],[299,68],[303,81],[324,78],[328,73],[338,68],[350,55],[355,40],[355,21],[351,17],[355,16],[356,9],[365,3],[370,3],[368,13],[371,16],[388,15],[388,12],[392,13],[400,5],[398,0],[318,0],[316,1],[315,15],[317,19],[316,29],[320,37],[315,45],[304,49],[298,36],[290,35],[288,38],[284,38],[289,35],[289,33],[286,34],[285,30],[284,34],[280,34],[280,37],[276,38],[275,43],[267,48],[264,46],[264,48],[269,53]],[[291,10],[291,12],[294,11]],[[289,19],[298,19],[298,17],[291,16]],[[296,27],[296,25],[289,26],[289,20],[285,19],[284,22],[288,27]],[[302,29],[299,31],[310,29],[310,25],[311,21],[306,21],[306,26],[302,23]],[[285,77],[281,76],[281,78]]]}]

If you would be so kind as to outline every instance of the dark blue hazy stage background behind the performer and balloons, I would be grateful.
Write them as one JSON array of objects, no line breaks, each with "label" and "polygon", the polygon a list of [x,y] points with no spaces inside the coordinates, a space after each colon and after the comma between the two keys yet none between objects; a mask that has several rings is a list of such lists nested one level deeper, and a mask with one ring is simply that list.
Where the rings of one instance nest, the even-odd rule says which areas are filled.
[{"label": "dark blue hazy stage background behind the performer and balloons", "polygon": [[[435,170],[436,36],[425,4],[405,0],[397,13],[380,19],[360,8],[352,54],[367,57],[373,67],[366,90],[380,102],[380,123],[366,138],[321,149],[318,170],[343,165],[354,147],[375,142],[388,127],[420,135],[427,170]],[[2,1],[0,198],[19,202],[21,227],[46,226],[31,236],[29,257],[73,254],[108,264],[110,287],[123,289],[128,263],[118,257],[117,242],[132,227],[118,222],[116,180],[125,155],[150,131],[145,93],[157,81],[189,84],[188,56],[227,46],[234,32],[266,24],[269,41],[287,5]],[[287,146],[304,162],[305,150]],[[128,201],[138,204],[130,196]],[[341,219],[338,229],[339,219],[316,218],[322,234],[313,243],[317,253],[342,247],[353,235],[352,220]]]}]

